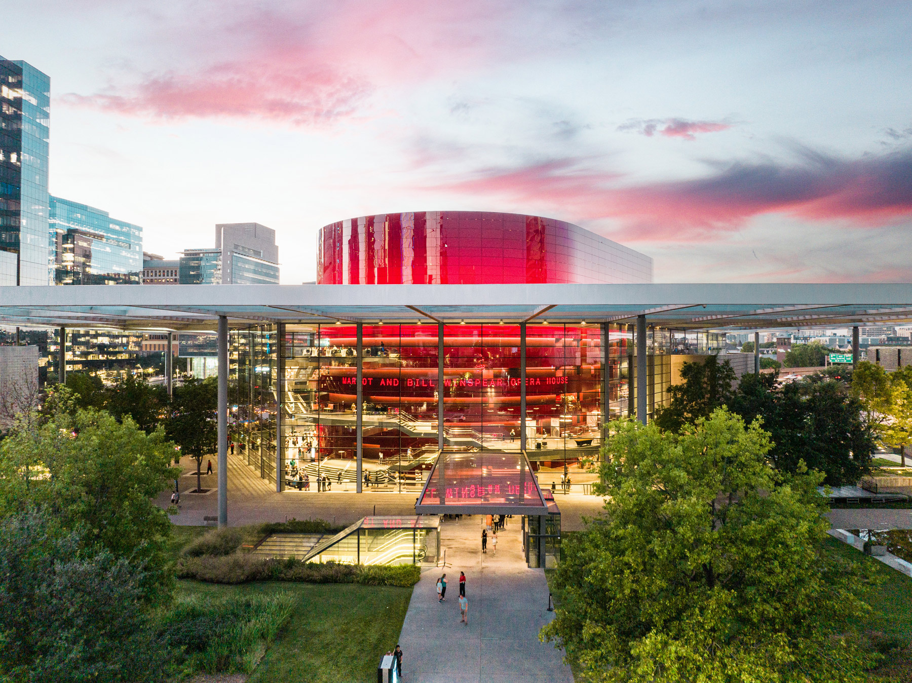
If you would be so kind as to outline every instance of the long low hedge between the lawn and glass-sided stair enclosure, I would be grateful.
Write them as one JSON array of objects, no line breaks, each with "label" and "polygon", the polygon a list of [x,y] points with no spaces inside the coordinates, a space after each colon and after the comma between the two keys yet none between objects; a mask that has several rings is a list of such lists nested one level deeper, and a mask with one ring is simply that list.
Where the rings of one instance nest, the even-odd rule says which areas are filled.
[{"label": "long low hedge between the lawn and glass-sided stair enclosure", "polygon": [[303,563],[294,557],[265,559],[248,554],[221,557],[181,557],[177,576],[210,584],[245,584],[250,581],[295,581],[307,584],[398,585],[408,587],[418,583],[419,567],[413,564],[396,566],[337,564],[335,562]]}]

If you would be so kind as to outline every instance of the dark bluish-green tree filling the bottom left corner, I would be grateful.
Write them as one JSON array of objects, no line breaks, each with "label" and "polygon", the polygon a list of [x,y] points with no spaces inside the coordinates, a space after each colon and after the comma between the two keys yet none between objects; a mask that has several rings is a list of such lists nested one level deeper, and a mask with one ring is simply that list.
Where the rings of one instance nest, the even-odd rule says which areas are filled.
[{"label": "dark bluish-green tree filling the bottom left corner", "polygon": [[0,679],[162,680],[170,653],[142,602],[144,578],[47,514],[0,521]]}]

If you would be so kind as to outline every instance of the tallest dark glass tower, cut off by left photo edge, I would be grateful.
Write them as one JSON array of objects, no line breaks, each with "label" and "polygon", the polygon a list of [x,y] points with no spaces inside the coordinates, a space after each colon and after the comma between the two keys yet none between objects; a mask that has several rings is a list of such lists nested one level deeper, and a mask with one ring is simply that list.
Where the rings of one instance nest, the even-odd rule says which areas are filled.
[{"label": "tallest dark glass tower, cut off by left photo edge", "polygon": [[50,78],[0,57],[0,284],[47,285]]}]

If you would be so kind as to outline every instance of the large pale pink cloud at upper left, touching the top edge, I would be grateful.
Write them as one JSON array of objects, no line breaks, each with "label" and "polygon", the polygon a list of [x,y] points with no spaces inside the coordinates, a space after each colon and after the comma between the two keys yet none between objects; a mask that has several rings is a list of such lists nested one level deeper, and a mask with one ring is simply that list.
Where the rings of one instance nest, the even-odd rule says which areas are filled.
[{"label": "large pale pink cloud at upper left, touching the top edge", "polygon": [[378,88],[480,67],[501,48],[482,40],[483,32],[510,11],[481,0],[458,7],[337,0],[255,11],[239,4],[219,21],[205,8],[150,38],[161,41],[157,49],[174,67],[64,101],[151,119],[326,123],[354,113]]}]

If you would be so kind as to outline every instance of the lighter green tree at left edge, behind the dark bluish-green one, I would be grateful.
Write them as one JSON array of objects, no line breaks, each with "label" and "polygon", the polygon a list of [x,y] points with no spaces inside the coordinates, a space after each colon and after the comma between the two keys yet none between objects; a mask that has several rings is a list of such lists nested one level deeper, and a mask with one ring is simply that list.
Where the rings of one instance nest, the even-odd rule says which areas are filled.
[{"label": "lighter green tree at left edge, behind the dark bluish-green one", "polygon": [[46,506],[61,527],[91,546],[145,566],[154,601],[171,588],[168,513],[154,499],[179,473],[164,430],[146,434],[125,417],[65,412],[0,442],[0,513]]}]

